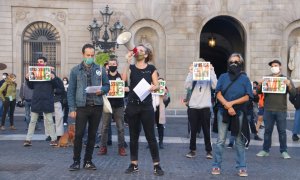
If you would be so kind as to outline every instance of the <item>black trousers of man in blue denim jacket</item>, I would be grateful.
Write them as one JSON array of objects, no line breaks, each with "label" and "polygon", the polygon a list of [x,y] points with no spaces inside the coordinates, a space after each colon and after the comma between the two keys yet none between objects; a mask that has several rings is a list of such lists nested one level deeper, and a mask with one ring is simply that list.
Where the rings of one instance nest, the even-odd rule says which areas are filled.
[{"label": "black trousers of man in blue denim jacket", "polygon": [[85,149],[84,161],[91,161],[95,146],[96,132],[102,116],[103,106],[86,106],[79,107],[76,110],[75,120],[75,141],[74,141],[74,161],[80,161],[81,149],[82,149],[82,138],[86,125],[88,126],[88,138]]}]

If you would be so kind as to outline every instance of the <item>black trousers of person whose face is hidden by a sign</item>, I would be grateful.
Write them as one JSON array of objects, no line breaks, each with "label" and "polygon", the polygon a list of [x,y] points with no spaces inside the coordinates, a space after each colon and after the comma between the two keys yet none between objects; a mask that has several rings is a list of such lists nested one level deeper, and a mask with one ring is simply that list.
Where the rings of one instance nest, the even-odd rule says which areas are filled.
[{"label": "black trousers of person whose face is hidden by a sign", "polygon": [[210,141],[210,108],[189,109],[189,121],[191,126],[190,150],[196,150],[196,135],[199,129],[203,129],[205,150],[211,152]]}]

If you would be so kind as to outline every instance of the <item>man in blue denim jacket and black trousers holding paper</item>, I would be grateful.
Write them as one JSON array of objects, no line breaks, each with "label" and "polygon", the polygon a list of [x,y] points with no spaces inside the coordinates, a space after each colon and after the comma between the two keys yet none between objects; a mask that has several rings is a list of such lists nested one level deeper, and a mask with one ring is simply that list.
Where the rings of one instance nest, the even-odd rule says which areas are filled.
[{"label": "man in blue denim jacket and black trousers holding paper", "polygon": [[[80,169],[82,138],[88,125],[88,140],[83,168],[96,170],[92,162],[96,132],[103,109],[102,95],[109,91],[109,80],[105,69],[94,63],[95,48],[91,44],[82,47],[82,62],[72,68],[68,88],[70,117],[75,119],[75,141],[73,164],[70,171]],[[102,84],[102,86],[101,86]],[[101,86],[96,91],[87,92],[87,87]]]}]

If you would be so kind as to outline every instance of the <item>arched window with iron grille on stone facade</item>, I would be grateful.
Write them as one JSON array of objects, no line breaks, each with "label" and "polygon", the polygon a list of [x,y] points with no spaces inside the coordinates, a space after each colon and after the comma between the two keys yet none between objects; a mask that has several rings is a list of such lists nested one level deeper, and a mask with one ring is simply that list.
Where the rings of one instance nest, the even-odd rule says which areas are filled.
[{"label": "arched window with iron grille on stone facade", "polygon": [[35,66],[41,56],[47,58],[47,66],[54,67],[60,76],[60,36],[57,29],[48,22],[34,22],[27,26],[23,33],[22,57],[23,74],[28,73],[28,66]]}]

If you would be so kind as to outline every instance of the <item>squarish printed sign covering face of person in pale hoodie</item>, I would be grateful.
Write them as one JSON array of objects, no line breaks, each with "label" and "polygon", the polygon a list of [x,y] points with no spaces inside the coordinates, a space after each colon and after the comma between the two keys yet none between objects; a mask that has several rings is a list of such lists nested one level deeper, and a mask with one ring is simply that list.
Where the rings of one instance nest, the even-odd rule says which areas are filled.
[{"label": "squarish printed sign covering face of person in pale hoodie", "polygon": [[209,81],[210,80],[210,63],[193,62],[193,80]]}]

